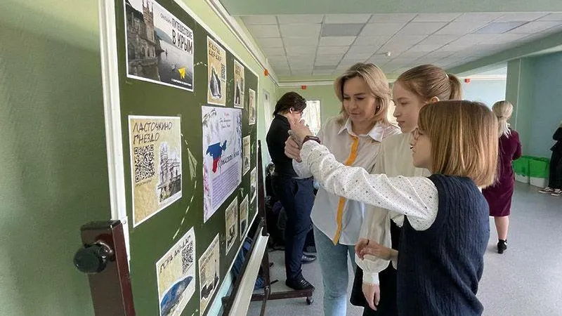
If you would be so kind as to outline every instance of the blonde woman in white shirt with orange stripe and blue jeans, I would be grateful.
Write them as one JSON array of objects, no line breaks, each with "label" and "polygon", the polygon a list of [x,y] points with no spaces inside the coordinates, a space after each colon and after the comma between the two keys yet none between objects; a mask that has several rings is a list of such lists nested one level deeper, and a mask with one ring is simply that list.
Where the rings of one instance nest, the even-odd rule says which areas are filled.
[{"label": "blonde woman in white shirt with orange stripe and blue jeans", "polygon": [[[329,119],[318,133],[318,140],[346,166],[371,172],[382,140],[400,133],[388,123],[391,90],[381,69],[358,63],[334,81],[341,101],[341,114]],[[293,140],[289,138],[287,143]],[[287,152],[295,149],[296,152]],[[311,176],[300,164],[298,145],[285,147],[288,157],[296,157],[294,169],[299,176]],[[306,171],[304,171],[306,170]],[[355,242],[359,237],[365,205],[339,197],[320,188],[311,218],[314,226],[318,262],[324,284],[324,314],[346,315],[348,258],[355,270]]]}]

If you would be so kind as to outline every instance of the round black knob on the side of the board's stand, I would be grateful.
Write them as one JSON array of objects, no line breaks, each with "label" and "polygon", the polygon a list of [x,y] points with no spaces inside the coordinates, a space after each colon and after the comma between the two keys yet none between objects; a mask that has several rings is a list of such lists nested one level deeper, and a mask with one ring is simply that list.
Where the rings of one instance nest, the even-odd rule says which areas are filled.
[{"label": "round black knob on the side of the board's stand", "polygon": [[94,244],[84,244],[84,247],[76,251],[74,265],[84,273],[102,272],[107,266],[107,261],[115,260],[114,254],[111,246],[98,240]]}]

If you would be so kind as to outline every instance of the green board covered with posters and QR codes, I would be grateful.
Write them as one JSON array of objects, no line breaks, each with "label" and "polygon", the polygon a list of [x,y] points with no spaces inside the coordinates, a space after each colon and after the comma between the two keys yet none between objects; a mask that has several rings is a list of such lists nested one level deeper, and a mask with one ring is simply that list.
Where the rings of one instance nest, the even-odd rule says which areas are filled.
[{"label": "green board covered with posters and QR codes", "polygon": [[136,313],[206,315],[256,215],[258,77],[174,0],[116,0]]}]

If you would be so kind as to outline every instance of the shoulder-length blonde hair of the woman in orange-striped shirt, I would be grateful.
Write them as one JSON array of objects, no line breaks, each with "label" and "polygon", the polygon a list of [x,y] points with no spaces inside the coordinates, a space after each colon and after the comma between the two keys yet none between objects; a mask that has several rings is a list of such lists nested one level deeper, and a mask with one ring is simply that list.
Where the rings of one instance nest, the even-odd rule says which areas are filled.
[{"label": "shoulder-length blonde hair of the woman in orange-striped shirt", "polygon": [[387,112],[392,102],[391,88],[388,86],[388,79],[386,79],[384,72],[376,65],[362,62],[358,62],[349,67],[344,74],[341,74],[341,76],[334,81],[334,91],[341,102],[341,111],[337,122],[343,125],[349,117],[344,108],[344,84],[348,79],[355,77],[360,77],[365,81],[367,86],[369,86],[371,95],[375,98],[376,107],[372,121],[374,123],[378,121],[388,123]]}]

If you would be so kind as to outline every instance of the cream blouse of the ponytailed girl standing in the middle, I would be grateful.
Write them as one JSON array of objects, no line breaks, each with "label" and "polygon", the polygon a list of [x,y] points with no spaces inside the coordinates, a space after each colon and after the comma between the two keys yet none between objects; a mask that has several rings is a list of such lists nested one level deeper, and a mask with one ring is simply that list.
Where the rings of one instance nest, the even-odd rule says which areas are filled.
[{"label": "cream blouse of the ponytailed girl standing in the middle", "polygon": [[[384,173],[386,176],[429,176],[427,169],[414,166],[412,150],[410,150],[410,133],[398,134],[386,138],[379,149],[379,157],[371,173]],[[377,206],[367,206],[365,219],[361,225],[359,238],[371,239],[379,244],[391,247],[391,218],[399,226],[404,216],[382,209]],[[388,261],[375,256],[365,256],[364,259],[355,255],[355,263],[363,270],[363,282],[379,284],[379,272],[388,267]],[[396,266],[396,265],[395,265]]]}]

